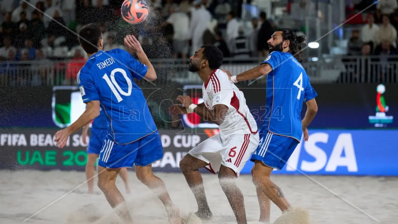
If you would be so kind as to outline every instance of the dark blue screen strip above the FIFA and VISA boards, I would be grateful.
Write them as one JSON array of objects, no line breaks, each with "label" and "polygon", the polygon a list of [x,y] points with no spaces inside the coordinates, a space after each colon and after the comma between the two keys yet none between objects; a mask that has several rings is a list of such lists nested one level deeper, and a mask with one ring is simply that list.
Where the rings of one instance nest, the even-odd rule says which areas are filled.
[{"label": "dark blue screen strip above the FIFA and VISA boards", "polygon": [[[267,119],[264,86],[239,86],[246,103],[261,126]],[[398,128],[398,88],[393,84],[314,84],[318,92],[318,114],[311,128]],[[201,102],[201,86],[150,86],[143,88],[148,103],[166,112],[179,94],[189,94]],[[0,127],[62,128],[76,120],[84,104],[76,86],[1,88]],[[303,106],[304,116],[306,106]],[[283,108],[281,108],[283,110]],[[156,116],[160,113],[153,112]],[[284,111],[285,112],[285,111]],[[160,120],[166,120],[162,117]],[[195,114],[182,116],[187,128],[217,128]],[[159,128],[162,126],[158,126]],[[164,126],[166,128],[167,126]]]}]

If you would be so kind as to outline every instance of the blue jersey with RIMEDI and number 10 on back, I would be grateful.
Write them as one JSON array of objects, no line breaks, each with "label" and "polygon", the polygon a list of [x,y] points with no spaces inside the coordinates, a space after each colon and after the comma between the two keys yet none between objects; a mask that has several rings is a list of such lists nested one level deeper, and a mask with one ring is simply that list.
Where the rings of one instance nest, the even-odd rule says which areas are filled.
[{"label": "blue jersey with RIMEDI and number 10 on back", "polygon": [[80,69],[77,79],[84,103],[99,100],[108,133],[117,144],[128,144],[156,131],[142,90],[133,78],[142,79],[148,67],[127,51],[99,51]]}]

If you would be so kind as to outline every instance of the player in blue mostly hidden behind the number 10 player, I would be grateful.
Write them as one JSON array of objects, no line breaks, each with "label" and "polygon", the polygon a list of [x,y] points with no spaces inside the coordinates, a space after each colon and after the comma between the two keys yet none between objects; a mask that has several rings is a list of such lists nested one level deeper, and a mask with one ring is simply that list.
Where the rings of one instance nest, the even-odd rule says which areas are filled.
[{"label": "player in blue mostly hidden behind the number 10 player", "polygon": [[[87,146],[87,163],[86,163],[86,179],[88,185],[88,193],[94,193],[94,175],[95,175],[95,163],[100,155],[100,151],[102,148],[103,140],[106,138],[108,134],[108,122],[105,117],[105,113],[100,108],[100,116],[94,119],[91,122],[91,136],[90,141]],[[82,140],[83,143],[86,144],[86,137],[88,128],[90,128],[90,123],[84,126],[82,131]],[[119,176],[123,179],[125,183],[126,193],[129,194],[131,192],[130,184],[129,184],[129,175],[127,173],[127,168],[122,168],[119,172]]]}]

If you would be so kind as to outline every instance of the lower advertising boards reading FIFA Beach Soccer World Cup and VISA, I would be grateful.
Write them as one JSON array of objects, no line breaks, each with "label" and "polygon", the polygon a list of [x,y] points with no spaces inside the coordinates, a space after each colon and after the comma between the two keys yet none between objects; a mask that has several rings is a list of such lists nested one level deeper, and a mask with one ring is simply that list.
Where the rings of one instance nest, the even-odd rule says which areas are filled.
[{"label": "lower advertising boards reading FIFA Beach Soccer World Cup and VISA", "polygon": [[[84,171],[87,145],[80,133],[70,136],[66,147],[54,144],[57,129],[0,129],[0,169]],[[179,161],[218,129],[159,130],[164,157],[153,164],[157,172],[181,172]],[[280,175],[398,176],[398,130],[309,130]],[[242,174],[250,174],[248,161]],[[206,172],[203,169],[204,172]]]}]

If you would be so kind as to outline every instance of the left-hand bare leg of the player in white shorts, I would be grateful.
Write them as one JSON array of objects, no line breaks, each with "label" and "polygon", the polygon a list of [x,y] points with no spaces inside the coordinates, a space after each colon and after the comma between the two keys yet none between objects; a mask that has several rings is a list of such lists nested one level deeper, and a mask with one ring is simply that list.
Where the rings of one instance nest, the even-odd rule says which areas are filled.
[{"label": "left-hand bare leg of the player in white shorts", "polygon": [[185,155],[179,162],[179,167],[198,204],[198,211],[195,214],[203,220],[209,220],[213,216],[209,204],[207,204],[202,175],[198,171],[199,168],[206,165],[208,165],[206,162],[196,159],[189,154]]}]

